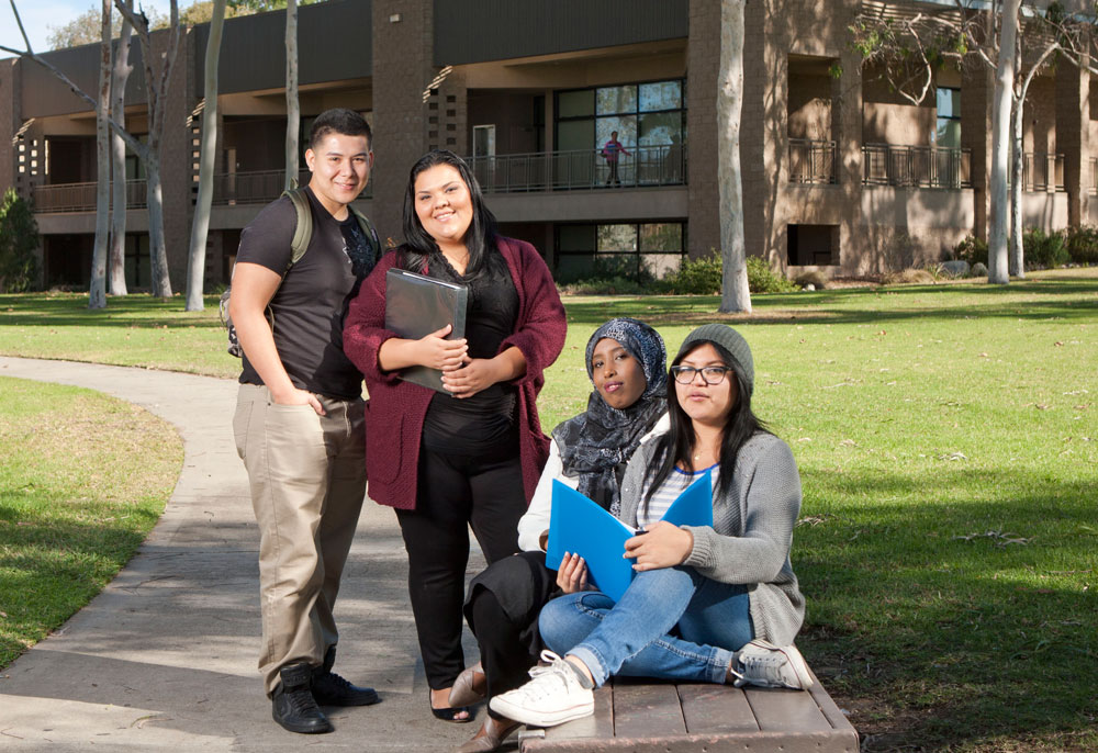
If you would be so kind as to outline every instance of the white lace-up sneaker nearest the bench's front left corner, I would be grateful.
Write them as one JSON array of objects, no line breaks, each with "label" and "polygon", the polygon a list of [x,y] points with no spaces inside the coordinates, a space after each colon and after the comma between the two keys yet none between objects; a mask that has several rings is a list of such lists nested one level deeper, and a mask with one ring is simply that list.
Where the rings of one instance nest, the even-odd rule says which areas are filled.
[{"label": "white lace-up sneaker nearest the bench's front left corner", "polygon": [[594,713],[595,695],[580,684],[579,670],[552,651],[542,651],[541,661],[549,666],[534,667],[526,685],[494,696],[491,709],[535,727],[553,727]]}]

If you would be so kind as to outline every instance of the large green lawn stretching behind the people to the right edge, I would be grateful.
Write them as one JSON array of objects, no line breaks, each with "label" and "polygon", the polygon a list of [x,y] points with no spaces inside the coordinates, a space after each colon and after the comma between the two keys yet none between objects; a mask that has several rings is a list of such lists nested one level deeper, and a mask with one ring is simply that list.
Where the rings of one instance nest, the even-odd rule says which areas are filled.
[{"label": "large green lawn stretching behind the people to the right edge", "polygon": [[[231,375],[215,310],[0,296],[0,352]],[[582,408],[591,331],[656,325],[672,353],[726,319],[805,503],[799,643],[865,750],[1098,750],[1098,270],[1008,286],[573,297],[544,425]],[[87,323],[93,322],[93,325]]]}]

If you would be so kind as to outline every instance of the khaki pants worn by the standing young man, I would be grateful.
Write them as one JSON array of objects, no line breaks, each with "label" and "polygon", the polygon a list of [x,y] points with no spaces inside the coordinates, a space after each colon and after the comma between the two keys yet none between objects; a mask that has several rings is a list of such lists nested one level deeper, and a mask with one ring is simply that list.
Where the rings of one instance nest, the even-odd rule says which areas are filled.
[{"label": "khaki pants worn by the standing young man", "polygon": [[242,384],[233,418],[259,524],[259,671],[268,696],[281,667],[318,666],[339,639],[332,607],[366,495],[363,402],[317,398],[324,416]]}]

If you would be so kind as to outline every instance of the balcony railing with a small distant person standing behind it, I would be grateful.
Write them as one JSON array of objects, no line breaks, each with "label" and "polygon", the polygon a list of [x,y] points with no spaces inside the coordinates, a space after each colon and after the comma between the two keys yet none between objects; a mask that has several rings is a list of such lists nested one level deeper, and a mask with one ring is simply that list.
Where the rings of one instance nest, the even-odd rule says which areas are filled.
[{"label": "balcony railing with a small distant person standing behind it", "polygon": [[616,182],[612,182],[606,159],[594,149],[466,157],[466,161],[485,193],[686,183],[686,150],[682,146],[627,148],[631,154],[619,155]]}]

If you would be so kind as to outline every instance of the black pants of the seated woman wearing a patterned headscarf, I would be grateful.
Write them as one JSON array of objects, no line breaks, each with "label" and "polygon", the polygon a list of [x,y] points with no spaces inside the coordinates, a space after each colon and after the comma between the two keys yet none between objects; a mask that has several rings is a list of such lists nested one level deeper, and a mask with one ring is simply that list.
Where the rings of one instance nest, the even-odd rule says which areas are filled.
[{"label": "black pants of the seated woman wearing a patterned headscarf", "polygon": [[542,649],[538,615],[557,591],[557,571],[546,567],[545,552],[504,558],[469,584],[464,612],[480,644],[488,698],[529,679]]}]

